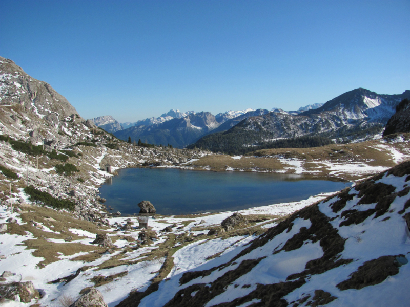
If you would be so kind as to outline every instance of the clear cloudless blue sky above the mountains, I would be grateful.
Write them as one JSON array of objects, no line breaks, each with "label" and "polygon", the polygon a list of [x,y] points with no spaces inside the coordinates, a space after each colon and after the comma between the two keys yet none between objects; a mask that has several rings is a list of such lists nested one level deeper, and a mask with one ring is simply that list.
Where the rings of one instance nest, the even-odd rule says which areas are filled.
[{"label": "clear cloudless blue sky above the mountains", "polygon": [[81,116],[324,103],[410,89],[410,1],[0,0],[0,55]]}]

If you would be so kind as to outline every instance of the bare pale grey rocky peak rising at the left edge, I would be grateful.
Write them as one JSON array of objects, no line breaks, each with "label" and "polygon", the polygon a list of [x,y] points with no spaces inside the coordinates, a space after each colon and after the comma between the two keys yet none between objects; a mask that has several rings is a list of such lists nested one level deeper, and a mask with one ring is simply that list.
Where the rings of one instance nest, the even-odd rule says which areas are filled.
[{"label": "bare pale grey rocky peak rising at the left edge", "polygon": [[0,57],[0,105],[13,104],[21,105],[53,126],[68,116],[79,117],[76,109],[50,84],[30,77],[12,60]]}]

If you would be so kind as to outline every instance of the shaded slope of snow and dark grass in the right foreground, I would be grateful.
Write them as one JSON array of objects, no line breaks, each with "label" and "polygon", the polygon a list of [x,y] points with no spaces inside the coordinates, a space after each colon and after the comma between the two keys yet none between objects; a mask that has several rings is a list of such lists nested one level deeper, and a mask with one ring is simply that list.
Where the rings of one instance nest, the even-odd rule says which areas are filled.
[{"label": "shaded slope of snow and dark grass in the right foreground", "polygon": [[405,162],[199,266],[212,245],[182,248],[174,258],[186,260],[156,291],[119,306],[407,306],[408,175]]}]

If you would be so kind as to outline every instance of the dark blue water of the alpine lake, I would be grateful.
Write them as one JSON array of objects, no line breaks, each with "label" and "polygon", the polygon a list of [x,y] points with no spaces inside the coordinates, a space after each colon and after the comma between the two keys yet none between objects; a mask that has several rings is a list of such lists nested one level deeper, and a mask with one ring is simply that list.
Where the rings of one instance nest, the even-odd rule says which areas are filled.
[{"label": "dark blue water of the alpine lake", "polygon": [[[126,168],[99,190],[114,212],[138,213],[150,201],[165,215],[234,211],[300,201],[351,183],[313,180],[294,174]],[[113,212],[113,211],[111,211]]]}]

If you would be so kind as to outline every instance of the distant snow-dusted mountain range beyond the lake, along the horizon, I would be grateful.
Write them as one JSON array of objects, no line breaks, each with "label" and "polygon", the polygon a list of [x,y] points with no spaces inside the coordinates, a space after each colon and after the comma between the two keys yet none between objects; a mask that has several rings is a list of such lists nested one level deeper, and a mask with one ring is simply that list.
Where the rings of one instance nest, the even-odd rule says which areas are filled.
[{"label": "distant snow-dusted mountain range beyond the lake, along the horizon", "polygon": [[[247,142],[251,142],[243,143],[242,146],[305,135],[320,135],[341,142],[355,141],[381,134],[387,120],[395,113],[396,105],[404,98],[410,98],[410,91],[385,95],[359,88],[324,104],[301,107],[298,111],[288,112],[280,108],[273,108],[271,111],[246,109],[219,113],[216,116],[209,112],[192,111],[183,116],[183,113],[171,110],[157,119],[141,120],[135,126],[113,133],[122,140],[131,137],[133,141],[141,139],[142,142],[171,144],[174,147],[186,147],[199,142],[196,144],[199,148],[204,145],[203,140],[200,140],[202,137],[210,138],[209,135],[224,131],[227,134],[233,133],[230,129],[241,123],[240,129],[248,131],[248,135],[252,131],[259,135],[254,139],[248,136]],[[220,137],[218,142],[221,143]]]}]

